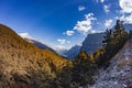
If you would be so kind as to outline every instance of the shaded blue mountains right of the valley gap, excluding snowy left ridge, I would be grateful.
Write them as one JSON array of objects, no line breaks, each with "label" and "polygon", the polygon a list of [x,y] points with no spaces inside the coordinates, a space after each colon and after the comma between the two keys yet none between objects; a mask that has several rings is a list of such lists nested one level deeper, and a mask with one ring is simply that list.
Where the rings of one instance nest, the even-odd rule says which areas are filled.
[{"label": "shaded blue mountains right of the valley gap, excluding snowy left ridge", "polygon": [[[127,31],[130,31],[132,28],[132,24],[125,23],[124,28]],[[88,34],[87,37],[84,40],[82,45],[80,47],[75,45],[69,51],[66,51],[66,53],[63,53],[63,54],[70,59],[74,59],[80,51],[86,51],[88,54],[91,54],[97,48],[102,46],[103,36],[105,36],[105,32]]]}]

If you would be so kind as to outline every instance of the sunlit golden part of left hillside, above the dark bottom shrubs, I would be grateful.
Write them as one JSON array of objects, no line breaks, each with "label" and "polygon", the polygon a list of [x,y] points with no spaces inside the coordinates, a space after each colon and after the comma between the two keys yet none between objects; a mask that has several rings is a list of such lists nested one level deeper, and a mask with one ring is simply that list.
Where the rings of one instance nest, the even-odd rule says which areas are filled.
[{"label": "sunlit golden part of left hillside, above the dark bottom shrubs", "polygon": [[[7,84],[15,85],[14,76],[26,75],[31,80],[31,74],[34,72],[43,72],[42,75],[47,74],[55,77],[56,70],[70,64],[72,62],[62,58],[50,50],[40,50],[28,43],[10,28],[0,24],[0,75]],[[23,78],[26,79],[26,77]],[[20,79],[24,80],[23,78]],[[11,87],[9,84],[8,86]]]}]

